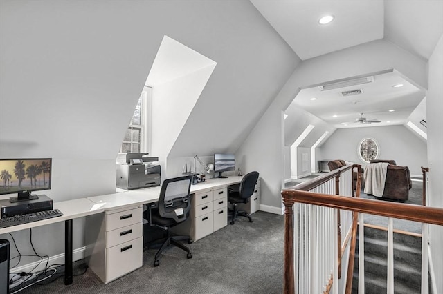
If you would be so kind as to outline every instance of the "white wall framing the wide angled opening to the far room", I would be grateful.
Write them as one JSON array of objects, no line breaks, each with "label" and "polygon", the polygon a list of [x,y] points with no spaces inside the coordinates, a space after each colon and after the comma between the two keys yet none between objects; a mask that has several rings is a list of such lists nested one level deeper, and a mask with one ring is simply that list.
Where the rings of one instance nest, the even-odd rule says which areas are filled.
[{"label": "white wall framing the wide angled opening to the far room", "polygon": [[392,69],[426,88],[426,62],[385,40],[300,63],[238,152],[251,158],[248,168],[259,170],[260,176],[265,179],[260,183],[262,204],[276,208],[282,206],[280,190],[284,187],[285,169],[282,110],[289,106],[298,88]]}]

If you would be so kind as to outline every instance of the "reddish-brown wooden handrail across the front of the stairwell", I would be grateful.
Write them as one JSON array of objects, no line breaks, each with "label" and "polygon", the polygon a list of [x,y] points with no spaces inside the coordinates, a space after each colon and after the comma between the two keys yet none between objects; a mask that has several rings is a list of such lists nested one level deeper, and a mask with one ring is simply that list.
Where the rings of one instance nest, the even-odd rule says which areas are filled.
[{"label": "reddish-brown wooden handrail across the front of the stairwell", "polygon": [[[398,202],[381,202],[377,199],[361,199],[354,197],[311,193],[300,190],[283,190],[283,201],[287,204],[295,202],[326,206],[330,208],[369,213],[383,217],[407,219],[413,222],[437,224],[443,226],[443,208],[427,207]],[[286,205],[286,204],[285,204]]]}]

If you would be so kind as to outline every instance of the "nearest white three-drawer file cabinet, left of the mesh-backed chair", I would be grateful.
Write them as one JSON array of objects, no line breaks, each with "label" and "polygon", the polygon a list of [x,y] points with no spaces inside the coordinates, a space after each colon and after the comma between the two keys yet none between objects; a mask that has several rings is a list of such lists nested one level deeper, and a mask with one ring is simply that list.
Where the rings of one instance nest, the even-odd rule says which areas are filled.
[{"label": "nearest white three-drawer file cabinet, left of the mesh-backed chair", "polygon": [[87,218],[87,261],[105,283],[143,264],[142,207],[106,210]]}]

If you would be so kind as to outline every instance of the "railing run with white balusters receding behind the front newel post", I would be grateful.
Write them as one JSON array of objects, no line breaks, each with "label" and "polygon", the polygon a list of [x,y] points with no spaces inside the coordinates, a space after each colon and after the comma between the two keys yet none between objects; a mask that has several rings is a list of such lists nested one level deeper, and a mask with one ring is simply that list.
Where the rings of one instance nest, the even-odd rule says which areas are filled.
[{"label": "railing run with white balusters receding behind the front newel post", "polygon": [[[312,193],[352,197],[353,167],[339,168],[316,177],[314,181],[304,182],[293,188]],[[288,264],[289,271],[294,271],[293,264],[297,265],[297,279],[294,280],[293,272],[288,272],[287,280],[292,282],[290,287],[298,288],[298,293],[329,293],[331,288],[336,286],[333,283],[334,277],[341,277],[342,256],[352,234],[352,213],[346,210],[298,204],[294,215],[293,202],[291,203],[289,206],[285,204],[287,215],[285,222],[287,226],[293,228],[285,230],[287,241],[285,264]],[[295,228],[294,219],[298,224]],[[293,251],[297,254],[294,255]],[[289,264],[292,264],[292,267]]]}]

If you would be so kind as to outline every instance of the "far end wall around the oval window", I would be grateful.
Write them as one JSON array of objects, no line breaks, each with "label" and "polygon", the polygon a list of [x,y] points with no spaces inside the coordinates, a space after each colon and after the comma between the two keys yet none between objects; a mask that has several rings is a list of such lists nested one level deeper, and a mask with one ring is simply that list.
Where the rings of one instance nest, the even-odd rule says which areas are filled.
[{"label": "far end wall around the oval window", "polygon": [[379,144],[379,159],[394,159],[397,165],[408,166],[411,175],[422,177],[421,167],[428,160],[426,143],[402,125],[338,129],[318,148],[322,154],[318,159],[343,159],[364,167],[357,150],[366,137]]}]

